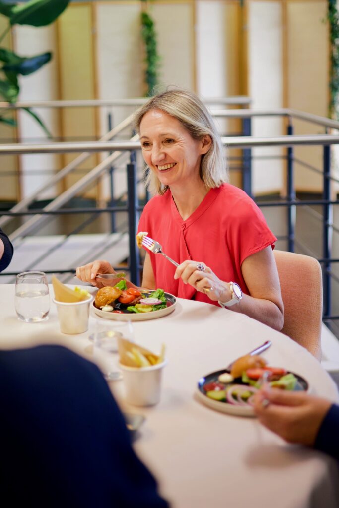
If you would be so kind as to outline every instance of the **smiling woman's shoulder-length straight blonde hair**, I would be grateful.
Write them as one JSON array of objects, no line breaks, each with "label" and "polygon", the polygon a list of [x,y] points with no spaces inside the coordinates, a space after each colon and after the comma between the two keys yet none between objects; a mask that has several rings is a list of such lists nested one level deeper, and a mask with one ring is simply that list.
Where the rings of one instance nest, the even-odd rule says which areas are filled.
[{"label": "smiling woman's shoulder-length straight blonde hair", "polygon": [[[152,97],[135,114],[135,130],[140,134],[140,123],[143,116],[151,109],[161,109],[173,116],[192,136],[193,139],[201,140],[204,136],[210,136],[212,144],[207,153],[202,155],[200,163],[200,177],[207,188],[220,187],[228,181],[224,149],[220,135],[214,124],[211,114],[192,92],[187,90],[168,90]],[[164,194],[168,189],[159,178],[146,168],[146,183],[153,194]]]}]

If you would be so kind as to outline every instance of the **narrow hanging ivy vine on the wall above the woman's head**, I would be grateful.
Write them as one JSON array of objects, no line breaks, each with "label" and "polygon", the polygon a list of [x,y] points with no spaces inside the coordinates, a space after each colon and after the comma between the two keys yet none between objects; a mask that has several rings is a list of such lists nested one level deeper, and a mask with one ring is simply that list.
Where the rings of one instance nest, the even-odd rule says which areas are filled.
[{"label": "narrow hanging ivy vine on the wall above the woman's head", "polygon": [[[147,0],[141,0],[146,7]],[[155,93],[155,87],[158,84],[159,62],[157,34],[155,23],[147,12],[147,7],[141,13],[141,36],[145,45],[145,71],[144,82],[147,87],[146,96],[152,96]]]}]

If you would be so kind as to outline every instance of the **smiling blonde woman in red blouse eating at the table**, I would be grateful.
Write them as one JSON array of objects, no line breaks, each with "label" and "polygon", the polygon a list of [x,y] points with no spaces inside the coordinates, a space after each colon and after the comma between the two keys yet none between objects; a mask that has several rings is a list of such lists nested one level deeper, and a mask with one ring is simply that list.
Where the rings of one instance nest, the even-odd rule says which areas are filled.
[{"label": "smiling blonde woman in red blouse eating at the table", "polygon": [[[281,330],[276,237],[253,200],[227,183],[223,146],[208,110],[195,94],[170,90],[151,98],[135,124],[155,194],[139,231],[179,263],[175,268],[147,251],[143,288],[221,305]],[[81,280],[102,287],[97,273],[114,271],[101,260],[77,268]]]}]

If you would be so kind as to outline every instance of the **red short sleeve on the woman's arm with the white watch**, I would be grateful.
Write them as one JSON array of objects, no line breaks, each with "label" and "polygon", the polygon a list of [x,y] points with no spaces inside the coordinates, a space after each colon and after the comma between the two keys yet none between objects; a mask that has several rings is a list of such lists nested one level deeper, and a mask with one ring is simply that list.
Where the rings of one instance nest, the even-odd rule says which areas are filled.
[{"label": "red short sleeve on the woman's arm with the white watch", "polygon": [[242,195],[232,210],[229,221],[226,229],[227,243],[238,266],[265,247],[271,245],[274,248],[276,237],[268,228],[261,210],[249,196]]}]

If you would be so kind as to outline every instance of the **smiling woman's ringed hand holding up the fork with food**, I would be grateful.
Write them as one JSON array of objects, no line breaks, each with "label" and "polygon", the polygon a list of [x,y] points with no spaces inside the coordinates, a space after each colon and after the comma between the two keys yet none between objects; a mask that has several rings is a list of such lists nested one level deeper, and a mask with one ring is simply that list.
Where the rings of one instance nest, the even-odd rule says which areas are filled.
[{"label": "smiling woman's ringed hand holding up the fork with food", "polygon": [[[199,270],[200,268],[200,270]],[[220,280],[204,263],[187,260],[175,270],[174,278],[182,278],[185,284],[191,284],[197,291],[205,293],[211,300],[231,300],[232,293],[227,282]],[[205,290],[204,288],[210,288]]]}]

